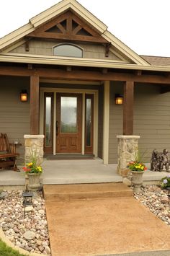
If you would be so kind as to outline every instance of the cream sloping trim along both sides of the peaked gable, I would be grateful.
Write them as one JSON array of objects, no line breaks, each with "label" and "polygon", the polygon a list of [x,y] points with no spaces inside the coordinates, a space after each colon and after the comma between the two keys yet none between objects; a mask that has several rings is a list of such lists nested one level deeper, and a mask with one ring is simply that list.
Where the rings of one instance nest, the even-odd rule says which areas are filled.
[{"label": "cream sloping trim along both sides of the peaked gable", "polygon": [[95,17],[91,12],[86,10],[81,4],[76,0],[63,0],[58,4],[47,9],[45,12],[41,12],[35,17],[30,19],[30,22],[23,27],[20,27],[18,30],[6,35],[0,39],[0,51],[9,48],[11,45],[21,41],[25,36],[29,35],[31,32],[34,32],[38,27],[49,22],[51,19],[55,18],[58,14],[66,12],[66,10],[71,9],[75,12],[81,19],[84,19],[91,27],[93,27],[101,37],[107,40],[113,47],[115,47],[120,53],[130,59],[135,64],[150,66],[150,64],[138,56],[133,50],[128,48],[127,45],[122,43],[109,31],[107,31],[107,26],[104,25],[97,17]]}]

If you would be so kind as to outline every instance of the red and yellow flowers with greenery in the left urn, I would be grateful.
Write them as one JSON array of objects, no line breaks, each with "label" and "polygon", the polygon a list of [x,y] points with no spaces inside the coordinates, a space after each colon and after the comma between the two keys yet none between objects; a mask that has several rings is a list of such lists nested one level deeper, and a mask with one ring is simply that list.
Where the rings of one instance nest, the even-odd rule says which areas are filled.
[{"label": "red and yellow flowers with greenery in the left urn", "polygon": [[25,164],[26,166],[23,167],[23,170],[25,173],[37,173],[41,174],[42,173],[42,167],[37,164],[37,154],[36,151],[31,151],[30,152],[30,159],[31,162]]}]

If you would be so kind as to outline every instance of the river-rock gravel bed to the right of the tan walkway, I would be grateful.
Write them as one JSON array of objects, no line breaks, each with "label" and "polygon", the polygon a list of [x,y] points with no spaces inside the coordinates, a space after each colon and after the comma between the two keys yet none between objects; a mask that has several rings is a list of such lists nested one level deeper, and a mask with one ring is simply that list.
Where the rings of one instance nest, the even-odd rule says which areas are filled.
[{"label": "river-rock gravel bed to the right of the tan walkway", "polygon": [[158,218],[170,225],[168,191],[161,190],[161,187],[157,185],[146,185],[141,187],[141,193],[134,193],[134,197]]}]

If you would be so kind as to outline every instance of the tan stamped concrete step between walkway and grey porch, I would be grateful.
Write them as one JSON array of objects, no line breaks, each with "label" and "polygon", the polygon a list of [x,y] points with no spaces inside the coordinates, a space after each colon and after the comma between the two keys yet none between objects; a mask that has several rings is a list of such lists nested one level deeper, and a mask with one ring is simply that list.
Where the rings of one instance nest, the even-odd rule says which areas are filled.
[{"label": "tan stamped concrete step between walkway and grey porch", "polygon": [[122,198],[133,196],[133,190],[121,182],[44,185],[43,190],[45,200],[47,201],[90,198]]}]

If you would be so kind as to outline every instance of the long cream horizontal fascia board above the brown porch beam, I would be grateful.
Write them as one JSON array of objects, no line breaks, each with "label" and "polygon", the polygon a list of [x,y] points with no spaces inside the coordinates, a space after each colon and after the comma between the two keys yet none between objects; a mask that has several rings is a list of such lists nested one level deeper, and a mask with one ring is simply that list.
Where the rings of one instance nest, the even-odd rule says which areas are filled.
[{"label": "long cream horizontal fascia board above the brown porch beam", "polygon": [[133,70],[148,70],[148,71],[170,71],[170,66],[144,66],[129,63],[117,63],[115,61],[105,61],[97,59],[82,59],[82,58],[46,58],[33,56],[9,56],[0,55],[1,62],[14,63],[38,63],[61,66],[89,66],[98,68],[110,69],[133,69]]}]

